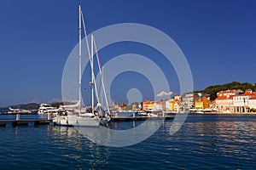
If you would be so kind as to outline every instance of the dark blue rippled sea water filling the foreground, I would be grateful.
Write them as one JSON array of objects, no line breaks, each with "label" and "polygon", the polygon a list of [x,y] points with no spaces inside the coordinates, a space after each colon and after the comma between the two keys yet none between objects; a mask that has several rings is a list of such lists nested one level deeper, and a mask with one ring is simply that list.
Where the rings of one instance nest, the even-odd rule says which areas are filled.
[{"label": "dark blue rippled sea water filling the foreground", "polygon": [[94,144],[73,127],[0,127],[0,169],[256,168],[256,116],[189,115],[172,136],[171,124],[122,148]]}]

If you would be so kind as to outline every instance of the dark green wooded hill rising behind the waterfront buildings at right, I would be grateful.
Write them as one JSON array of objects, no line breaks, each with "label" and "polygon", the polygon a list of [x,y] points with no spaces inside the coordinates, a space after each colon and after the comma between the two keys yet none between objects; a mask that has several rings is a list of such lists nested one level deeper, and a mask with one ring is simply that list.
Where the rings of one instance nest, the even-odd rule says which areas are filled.
[{"label": "dark green wooded hill rising behind the waterfront buildings at right", "polygon": [[222,90],[228,90],[228,89],[241,89],[242,91],[246,91],[247,89],[252,89],[254,92],[256,91],[256,85],[255,83],[249,83],[249,82],[229,82],[223,85],[213,85],[205,88],[204,90],[197,90],[195,93],[204,93],[204,94],[210,94],[211,100],[214,100],[217,98],[217,93]]}]

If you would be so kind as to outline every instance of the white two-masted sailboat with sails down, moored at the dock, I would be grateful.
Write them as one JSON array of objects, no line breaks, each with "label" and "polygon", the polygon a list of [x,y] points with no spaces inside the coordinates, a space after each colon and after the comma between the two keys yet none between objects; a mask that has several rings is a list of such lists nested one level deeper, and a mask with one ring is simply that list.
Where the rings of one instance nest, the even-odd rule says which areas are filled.
[{"label": "white two-masted sailboat with sails down, moored at the dock", "polygon": [[[54,122],[55,122],[55,124],[62,125],[62,126],[97,127],[100,125],[100,123],[103,125],[107,124],[110,121],[111,117],[110,117],[110,114],[106,114],[106,116],[102,114],[103,113],[102,105],[100,104],[99,94],[98,94],[97,88],[96,88],[96,78],[94,75],[93,54],[94,54],[94,46],[96,46],[96,43],[95,43],[95,38],[92,35],[91,36],[91,52],[90,52],[89,42],[86,37],[87,33],[85,30],[85,26],[84,26],[84,35],[85,35],[85,40],[87,43],[87,49],[88,49],[89,60],[90,60],[90,70],[91,70],[91,82],[90,82],[90,84],[91,84],[91,107],[82,108],[82,94],[81,94],[82,22],[83,22],[83,26],[84,26],[84,17],[83,17],[83,13],[82,13],[82,8],[81,8],[81,5],[79,5],[79,102],[78,102],[79,110],[74,111],[72,114],[67,114],[67,116],[56,116],[54,118]],[[98,61],[98,65],[99,65],[99,71],[101,74],[101,80],[102,80],[102,83],[104,83],[104,81],[102,79],[102,69],[101,69],[101,65],[99,64],[99,58],[98,58],[97,52],[96,52],[96,56],[97,56],[97,61]],[[106,103],[108,106],[105,85],[103,86],[103,91],[104,91]],[[96,108],[94,108],[94,105],[95,105],[94,104],[94,93],[96,93],[96,100],[97,100]],[[99,111],[96,112],[96,109],[98,109]],[[110,113],[109,108],[108,108],[108,113]]]}]

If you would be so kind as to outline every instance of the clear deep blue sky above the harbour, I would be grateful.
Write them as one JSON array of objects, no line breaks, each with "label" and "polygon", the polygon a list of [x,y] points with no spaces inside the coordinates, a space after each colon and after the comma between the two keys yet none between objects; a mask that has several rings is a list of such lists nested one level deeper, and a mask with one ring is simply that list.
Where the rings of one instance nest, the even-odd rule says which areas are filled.
[{"label": "clear deep blue sky above the harbour", "polygon": [[[132,22],[154,26],[172,37],[189,61],[195,89],[233,81],[256,82],[256,1],[81,2],[89,33]],[[0,106],[61,98],[63,67],[78,42],[78,4],[61,0],[0,2]],[[140,50],[143,54],[143,48]],[[106,53],[108,58],[111,53]],[[122,82],[120,78],[117,83]],[[176,85],[172,91],[178,92]],[[120,96],[116,99],[122,100]]]}]

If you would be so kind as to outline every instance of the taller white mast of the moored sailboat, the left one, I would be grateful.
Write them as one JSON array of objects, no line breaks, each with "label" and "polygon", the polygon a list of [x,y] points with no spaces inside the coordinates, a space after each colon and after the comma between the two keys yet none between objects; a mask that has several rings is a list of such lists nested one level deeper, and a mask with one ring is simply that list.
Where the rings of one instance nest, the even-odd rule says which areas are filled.
[{"label": "taller white mast of the moored sailboat, the left one", "polygon": [[79,115],[82,108],[82,26],[81,26],[81,5],[79,4]]}]

